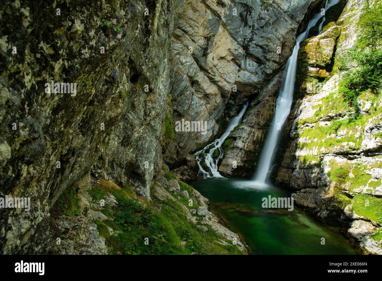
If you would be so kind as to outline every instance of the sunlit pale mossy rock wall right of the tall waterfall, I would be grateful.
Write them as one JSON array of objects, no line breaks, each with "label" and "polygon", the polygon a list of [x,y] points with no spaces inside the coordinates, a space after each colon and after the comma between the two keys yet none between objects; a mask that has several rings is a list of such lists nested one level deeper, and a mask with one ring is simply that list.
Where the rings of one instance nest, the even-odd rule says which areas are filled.
[{"label": "sunlit pale mossy rock wall right of the tall waterfall", "polygon": [[343,73],[333,67],[362,36],[358,21],[366,1],[338,5],[342,14],[329,12],[322,34],[301,44],[295,106],[283,137],[290,142],[276,182],[298,189],[295,202],[326,223],[349,228],[366,252],[381,254],[382,99],[364,91],[361,116],[350,121],[355,109],[340,93]]}]

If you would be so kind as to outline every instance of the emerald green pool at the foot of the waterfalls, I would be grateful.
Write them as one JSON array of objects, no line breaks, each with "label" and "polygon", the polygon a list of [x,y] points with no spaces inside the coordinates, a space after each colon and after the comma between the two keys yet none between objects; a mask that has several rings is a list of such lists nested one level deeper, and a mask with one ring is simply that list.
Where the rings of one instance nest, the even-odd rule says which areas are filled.
[{"label": "emerald green pool at the foot of the waterfalls", "polygon": [[[324,226],[294,206],[262,208],[262,198],[290,197],[277,187],[246,187],[245,180],[198,177],[191,185],[210,200],[235,232],[240,232],[254,254],[361,254],[333,227]],[[325,238],[325,245],[321,238]]]}]

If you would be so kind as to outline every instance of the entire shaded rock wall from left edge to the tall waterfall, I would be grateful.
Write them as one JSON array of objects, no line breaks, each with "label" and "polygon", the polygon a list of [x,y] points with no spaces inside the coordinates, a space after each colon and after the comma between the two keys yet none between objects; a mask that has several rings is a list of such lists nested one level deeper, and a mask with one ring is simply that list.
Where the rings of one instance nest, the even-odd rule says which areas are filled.
[{"label": "entire shaded rock wall from left edge to the tall waterfall", "polygon": [[[162,153],[169,164],[181,162],[197,143],[215,137],[228,101],[234,114],[259,94],[242,136],[249,143],[243,151],[256,151],[263,138],[259,126],[274,110],[278,73],[306,11],[316,4],[178,1],[174,11],[166,0],[5,1],[1,195],[30,197],[31,210],[0,213],[2,252],[44,249],[50,209],[88,171],[150,198]],[[76,95],[45,92],[52,80],[76,83]],[[168,116],[170,125],[182,118],[207,121],[207,134],[175,132],[163,140]]]}]

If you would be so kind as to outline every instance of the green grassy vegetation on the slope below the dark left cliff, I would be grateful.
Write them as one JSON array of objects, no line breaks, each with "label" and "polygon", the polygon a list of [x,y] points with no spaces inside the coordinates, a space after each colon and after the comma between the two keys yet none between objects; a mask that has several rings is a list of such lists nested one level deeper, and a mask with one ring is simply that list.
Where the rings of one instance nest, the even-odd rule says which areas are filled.
[{"label": "green grassy vegetation on the slope below the dark left cliff", "polygon": [[[192,187],[181,182],[172,172],[166,171],[164,176],[168,180],[176,179],[181,190],[193,192]],[[219,244],[217,241],[223,237],[208,225],[209,231],[205,232],[188,221],[180,205],[189,207],[188,199],[184,202],[171,198],[164,201],[154,199],[149,203],[138,198],[129,187],[121,188],[108,181],[101,182],[98,187],[118,201],[117,206],[110,208],[105,205],[102,210],[107,220],[95,222],[100,235],[105,238],[109,254],[242,254],[235,245]],[[160,212],[153,210],[154,203],[161,204]],[[197,209],[197,206],[198,203],[194,202],[192,208]],[[181,241],[186,241],[186,245],[181,246]]]}]

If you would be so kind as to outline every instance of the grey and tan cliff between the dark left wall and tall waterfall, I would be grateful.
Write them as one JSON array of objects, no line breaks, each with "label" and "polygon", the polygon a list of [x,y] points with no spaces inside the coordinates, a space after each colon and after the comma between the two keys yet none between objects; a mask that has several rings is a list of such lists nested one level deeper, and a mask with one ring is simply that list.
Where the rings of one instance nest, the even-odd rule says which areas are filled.
[{"label": "grey and tan cliff between the dark left wall and tall waterfall", "polygon": [[254,143],[261,141],[263,135],[259,127],[264,126],[274,107],[277,73],[295,45],[296,30],[307,10],[318,2],[174,2],[172,118],[174,122],[182,118],[207,121],[207,133],[175,132],[171,145],[165,149],[165,161],[178,164],[189,151],[217,136],[226,118],[235,116],[249,98],[261,96],[256,102],[257,110],[250,115],[256,114],[256,124],[249,118],[236,133],[243,138],[232,135],[236,141],[220,171],[231,174],[233,158],[240,162],[240,168],[247,160],[242,157],[243,151],[258,149]]}]

